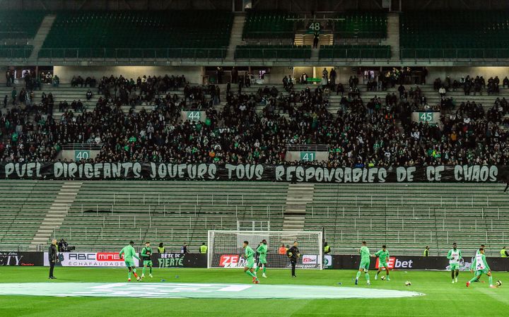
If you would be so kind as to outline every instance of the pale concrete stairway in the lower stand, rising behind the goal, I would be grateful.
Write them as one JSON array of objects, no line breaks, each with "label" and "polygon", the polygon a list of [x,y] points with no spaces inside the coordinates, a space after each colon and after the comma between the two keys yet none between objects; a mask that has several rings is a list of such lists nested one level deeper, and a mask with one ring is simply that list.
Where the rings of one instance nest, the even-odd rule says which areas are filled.
[{"label": "pale concrete stairway in the lower stand, rising behind the goal", "polygon": [[283,231],[303,231],[306,204],[312,203],[315,184],[290,184],[286,195]]}]

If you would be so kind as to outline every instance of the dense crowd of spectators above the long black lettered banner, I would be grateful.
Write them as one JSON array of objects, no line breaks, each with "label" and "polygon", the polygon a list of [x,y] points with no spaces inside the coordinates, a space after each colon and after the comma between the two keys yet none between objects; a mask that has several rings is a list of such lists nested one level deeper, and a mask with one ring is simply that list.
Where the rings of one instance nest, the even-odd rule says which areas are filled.
[{"label": "dense crowd of spectators above the long black lettered banner", "polygon": [[[83,85],[93,87],[87,79]],[[509,134],[502,128],[509,125],[505,98],[487,112],[476,102],[452,106],[433,126],[410,119],[414,104],[426,103],[419,87],[399,85],[397,92],[364,103],[358,81],[351,78],[349,93],[342,94],[341,107],[332,114],[330,85],[298,91],[292,79],[285,82],[284,91],[227,89],[218,106],[218,85],[189,85],[184,76],[103,77],[97,85],[101,97],[89,112],[82,112],[81,100],[65,102],[59,104],[62,118],[55,120],[51,94],[32,112],[12,107],[0,118],[0,153],[7,161],[47,162],[66,143],[98,143],[103,146],[95,162],[281,164],[288,144],[326,144],[329,161],[322,164],[329,167],[509,163]],[[178,88],[184,97],[177,96]],[[122,111],[133,102],[144,109]],[[182,109],[201,109],[206,119],[182,121]]]}]

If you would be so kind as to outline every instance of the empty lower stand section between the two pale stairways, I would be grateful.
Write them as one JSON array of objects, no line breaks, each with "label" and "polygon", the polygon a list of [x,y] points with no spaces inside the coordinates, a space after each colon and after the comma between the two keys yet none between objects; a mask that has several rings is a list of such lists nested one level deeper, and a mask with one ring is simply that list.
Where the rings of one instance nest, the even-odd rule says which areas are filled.
[{"label": "empty lower stand section between the two pale stairways", "polygon": [[164,242],[195,253],[208,229],[281,230],[288,184],[269,182],[87,181],[57,235],[79,250],[121,249],[125,241]]}]

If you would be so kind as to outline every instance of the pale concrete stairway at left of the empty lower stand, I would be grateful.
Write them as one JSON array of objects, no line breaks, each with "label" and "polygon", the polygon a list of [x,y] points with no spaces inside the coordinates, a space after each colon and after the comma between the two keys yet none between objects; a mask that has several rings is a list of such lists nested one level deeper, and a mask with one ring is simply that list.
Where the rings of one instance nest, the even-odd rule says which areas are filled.
[{"label": "pale concrete stairway at left of the empty lower stand", "polygon": [[79,181],[66,181],[62,185],[54,203],[49,207],[45,219],[42,220],[39,229],[30,243],[30,251],[37,250],[37,246],[40,244],[47,244],[49,238],[52,237],[54,229],[62,225],[69,205],[74,203],[74,199],[76,199],[82,184]]}]

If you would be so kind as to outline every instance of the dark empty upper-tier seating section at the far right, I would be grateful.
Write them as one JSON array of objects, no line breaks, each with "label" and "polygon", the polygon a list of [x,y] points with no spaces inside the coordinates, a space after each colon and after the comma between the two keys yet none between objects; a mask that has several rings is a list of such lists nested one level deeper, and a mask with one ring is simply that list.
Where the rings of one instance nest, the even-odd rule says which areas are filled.
[{"label": "dark empty upper-tier seating section at the far right", "polygon": [[509,57],[508,18],[502,11],[405,12],[399,30],[402,58]]}]

